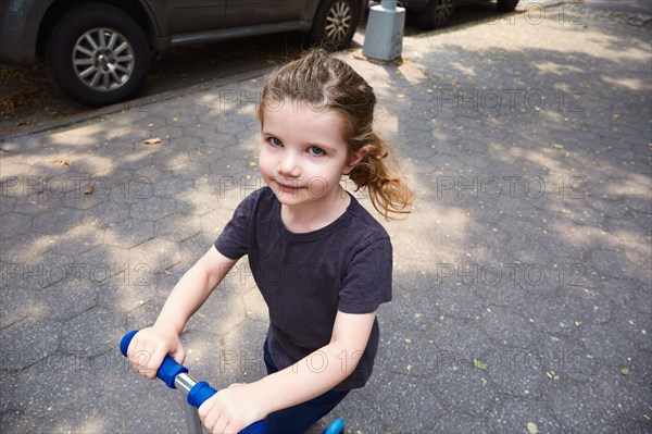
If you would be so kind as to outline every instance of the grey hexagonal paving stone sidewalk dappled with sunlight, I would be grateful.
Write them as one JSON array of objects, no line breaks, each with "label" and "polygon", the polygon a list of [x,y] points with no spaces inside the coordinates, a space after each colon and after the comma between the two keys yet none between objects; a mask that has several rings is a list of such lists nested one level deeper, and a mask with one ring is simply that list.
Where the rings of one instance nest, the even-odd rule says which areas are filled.
[{"label": "grey hexagonal paving stone sidewalk dappled with sunlight", "polygon": [[[652,432],[650,28],[559,8],[409,35],[401,65],[338,54],[416,191],[350,433]],[[263,83],[0,142],[0,432],[185,432],[117,342],[262,186]],[[263,375],[266,319],[240,261],[184,333],[191,373]]]}]

